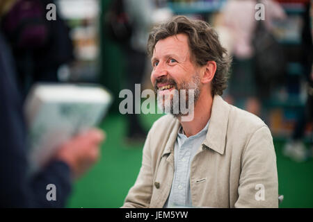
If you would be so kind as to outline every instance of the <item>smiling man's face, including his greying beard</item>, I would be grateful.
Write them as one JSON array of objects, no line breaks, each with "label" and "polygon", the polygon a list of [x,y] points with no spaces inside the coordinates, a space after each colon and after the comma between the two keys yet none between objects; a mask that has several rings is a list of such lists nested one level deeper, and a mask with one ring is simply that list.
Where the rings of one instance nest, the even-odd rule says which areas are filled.
[{"label": "smiling man's face, including his greying beard", "polygon": [[[216,67],[215,62],[211,65],[211,69]],[[181,121],[186,122],[186,116],[191,117],[187,121],[193,120],[195,102],[200,96],[200,73],[204,67],[194,67],[191,62],[188,36],[181,33],[157,42],[152,66],[151,81],[159,108],[180,117]],[[164,66],[171,69],[170,77]]]}]

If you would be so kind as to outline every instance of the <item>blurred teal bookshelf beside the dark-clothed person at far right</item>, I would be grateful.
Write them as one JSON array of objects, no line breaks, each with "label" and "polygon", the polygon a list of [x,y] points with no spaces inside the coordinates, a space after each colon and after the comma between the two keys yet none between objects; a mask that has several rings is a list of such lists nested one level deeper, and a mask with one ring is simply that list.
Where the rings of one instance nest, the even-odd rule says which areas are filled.
[{"label": "blurred teal bookshelf beside the dark-clothed person at far right", "polygon": [[[287,53],[286,81],[284,87],[273,92],[266,102],[268,124],[273,137],[286,140],[291,137],[296,121],[305,108],[306,89],[304,67],[300,63],[302,31],[306,0],[277,0],[286,12],[287,19],[273,22],[273,35]],[[304,140],[312,141],[312,123],[305,126]]]}]

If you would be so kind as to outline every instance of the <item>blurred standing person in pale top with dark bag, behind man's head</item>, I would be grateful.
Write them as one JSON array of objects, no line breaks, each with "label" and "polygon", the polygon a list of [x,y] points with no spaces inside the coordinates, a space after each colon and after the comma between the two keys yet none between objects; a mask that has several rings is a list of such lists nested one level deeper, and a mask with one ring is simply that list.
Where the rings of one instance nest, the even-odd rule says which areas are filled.
[{"label": "blurred standing person in pale top with dark bag, behind man's head", "polygon": [[[112,1],[109,12],[110,35],[113,40],[120,43],[125,53],[127,89],[131,89],[133,95],[135,95],[135,84],[142,83],[147,68],[148,33],[154,24],[168,19],[171,15],[168,8],[158,8],[156,0]],[[135,99],[133,101],[133,110],[141,106],[140,101],[138,104]],[[139,115],[135,113],[126,115],[128,119],[127,142],[144,142],[147,133],[139,120]]]}]

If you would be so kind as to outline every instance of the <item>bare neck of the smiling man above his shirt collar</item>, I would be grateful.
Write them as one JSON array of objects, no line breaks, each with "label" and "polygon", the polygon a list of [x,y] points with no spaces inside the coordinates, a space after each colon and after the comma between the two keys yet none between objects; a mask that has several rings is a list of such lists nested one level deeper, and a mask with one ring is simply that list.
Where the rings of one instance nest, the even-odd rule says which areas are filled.
[{"label": "bare neck of the smiling man above his shirt collar", "polygon": [[186,137],[196,135],[207,125],[207,121],[209,121],[211,117],[212,103],[213,97],[202,93],[195,103],[193,120],[182,121],[182,117],[178,118]]}]

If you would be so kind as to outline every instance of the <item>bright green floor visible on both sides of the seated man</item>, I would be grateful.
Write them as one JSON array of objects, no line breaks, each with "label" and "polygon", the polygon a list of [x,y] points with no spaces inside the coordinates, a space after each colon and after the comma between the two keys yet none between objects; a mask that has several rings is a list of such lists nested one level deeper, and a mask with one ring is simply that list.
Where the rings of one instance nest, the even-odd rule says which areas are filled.
[{"label": "bright green floor visible on both sides of the seated man", "polygon": [[[159,115],[143,115],[148,129]],[[134,185],[141,167],[143,144],[127,146],[123,141],[125,117],[106,117],[102,128],[107,139],[102,157],[95,167],[74,185],[68,207],[120,207]],[[313,160],[296,163],[282,155],[282,142],[275,142],[279,192],[284,195],[280,207],[313,207]]]}]

